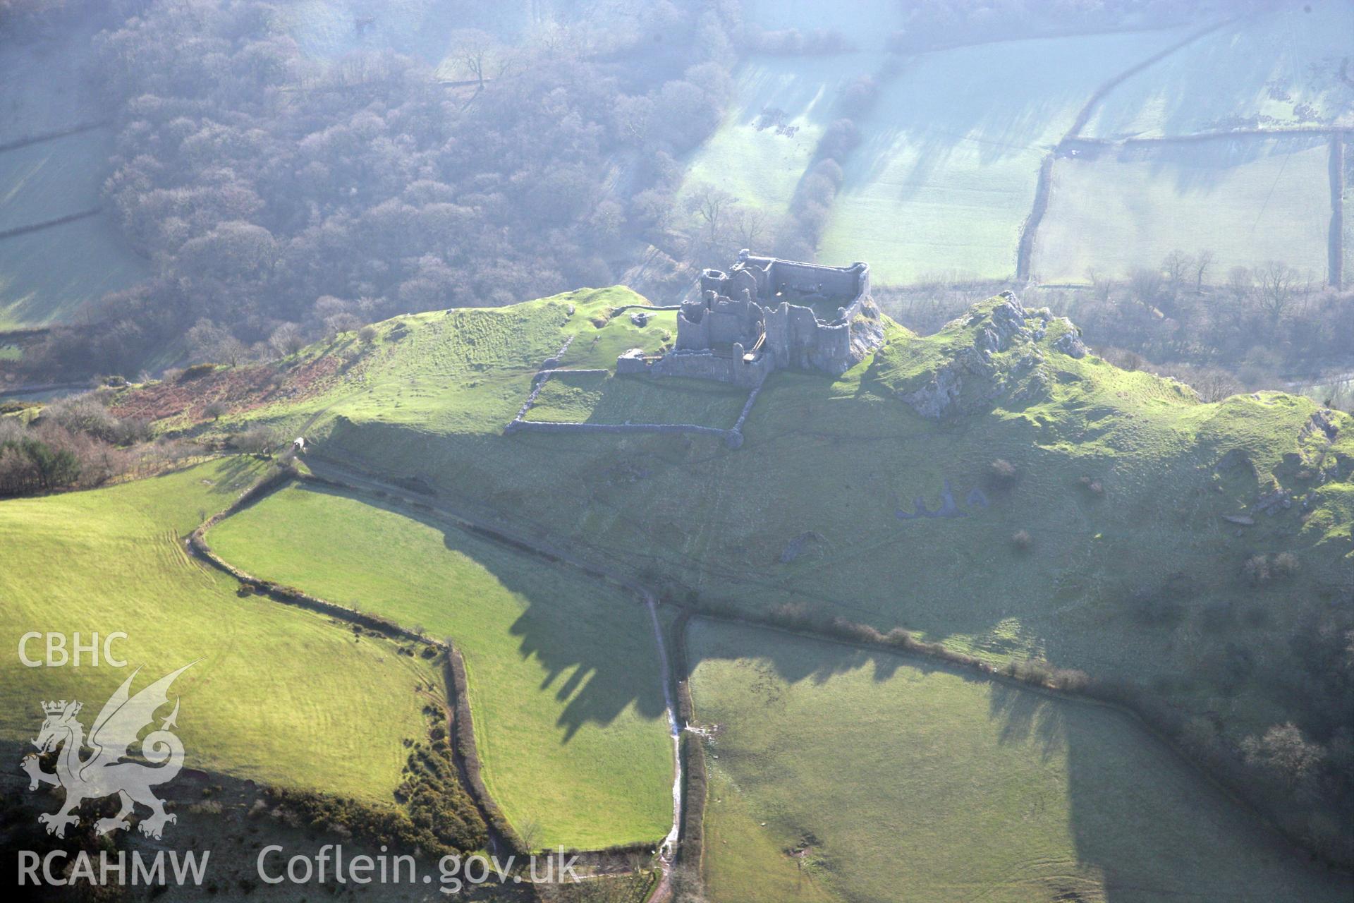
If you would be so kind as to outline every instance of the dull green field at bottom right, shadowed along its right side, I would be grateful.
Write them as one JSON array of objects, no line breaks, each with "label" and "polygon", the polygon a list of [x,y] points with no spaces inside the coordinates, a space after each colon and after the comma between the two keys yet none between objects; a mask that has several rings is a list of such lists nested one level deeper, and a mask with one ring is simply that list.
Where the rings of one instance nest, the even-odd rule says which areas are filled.
[{"label": "dull green field at bottom right, shadowed along its right side", "polygon": [[695,621],[689,647],[719,903],[1354,889],[1112,709],[756,628]]}]

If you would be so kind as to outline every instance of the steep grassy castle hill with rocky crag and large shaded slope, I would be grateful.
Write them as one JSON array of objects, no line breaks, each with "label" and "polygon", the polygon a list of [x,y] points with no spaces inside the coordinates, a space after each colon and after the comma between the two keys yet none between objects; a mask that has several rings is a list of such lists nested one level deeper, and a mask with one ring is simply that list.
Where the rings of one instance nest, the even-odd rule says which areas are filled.
[{"label": "steep grassy castle hill with rocky crag and large shaded slope", "polygon": [[[670,321],[604,318],[630,298],[391,321],[325,393],[250,417],[294,429],[320,413],[317,460],[418,477],[678,598],[803,604],[992,662],[1129,678],[1233,739],[1303,704],[1303,661],[1273,640],[1349,593],[1349,417],[1273,393],[1202,405],[1178,383],[1064,353],[1070,324],[994,299],[934,336],[892,329],[838,379],[777,374],[737,451],[685,436],[504,436],[569,336],[565,360],[580,367],[662,343]],[[995,459],[1014,467],[1011,485],[992,483]],[[960,516],[915,516],[941,508],[946,481]],[[1289,505],[1263,513],[1277,490]],[[1013,542],[1021,531],[1028,543]],[[1243,570],[1285,552],[1282,575]]]}]

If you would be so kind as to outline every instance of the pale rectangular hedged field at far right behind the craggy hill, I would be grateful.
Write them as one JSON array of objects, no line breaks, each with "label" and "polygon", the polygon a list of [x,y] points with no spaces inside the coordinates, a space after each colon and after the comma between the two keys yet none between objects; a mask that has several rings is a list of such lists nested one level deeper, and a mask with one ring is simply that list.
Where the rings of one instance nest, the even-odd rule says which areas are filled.
[{"label": "pale rectangular hedged field at far right behind the craggy hill", "polygon": [[1322,135],[1089,149],[1053,164],[1030,272],[1085,283],[1156,267],[1174,249],[1212,250],[1209,279],[1280,260],[1324,282],[1331,222]]}]

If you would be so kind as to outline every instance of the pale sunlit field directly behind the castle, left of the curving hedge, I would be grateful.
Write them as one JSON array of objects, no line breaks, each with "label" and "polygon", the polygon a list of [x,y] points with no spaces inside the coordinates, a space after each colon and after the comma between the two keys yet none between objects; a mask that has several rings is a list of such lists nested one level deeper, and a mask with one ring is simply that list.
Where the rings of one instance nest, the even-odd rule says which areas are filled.
[{"label": "pale sunlit field directly behind the castle, left of the curving hedge", "polygon": [[911,58],[857,125],[819,245],[879,284],[1016,272],[1040,161],[1110,76],[1179,30],[1044,38]]}]

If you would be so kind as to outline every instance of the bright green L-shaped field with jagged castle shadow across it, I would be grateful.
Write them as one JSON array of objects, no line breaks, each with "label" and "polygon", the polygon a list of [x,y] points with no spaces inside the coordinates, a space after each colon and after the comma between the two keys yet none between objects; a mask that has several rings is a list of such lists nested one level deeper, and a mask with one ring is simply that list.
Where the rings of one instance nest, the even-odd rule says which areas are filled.
[{"label": "bright green L-shaped field with jagged castle shadow across it", "polygon": [[657,841],[672,741],[649,613],[632,597],[357,498],[294,486],[209,536],[226,560],[451,636],[485,783],[535,846]]}]

